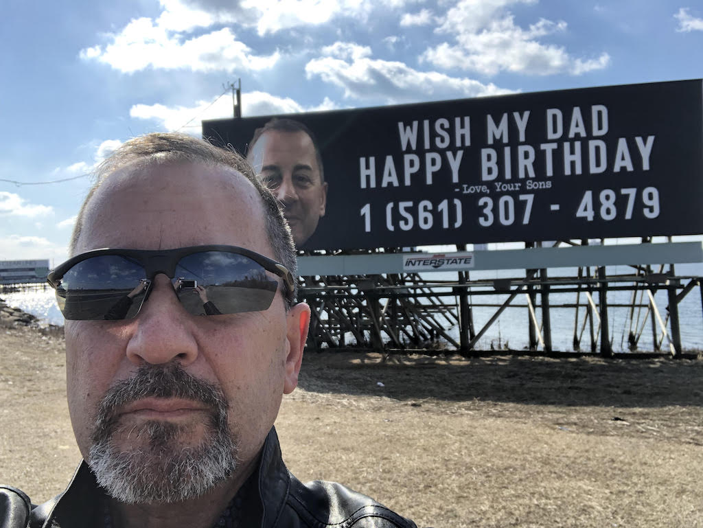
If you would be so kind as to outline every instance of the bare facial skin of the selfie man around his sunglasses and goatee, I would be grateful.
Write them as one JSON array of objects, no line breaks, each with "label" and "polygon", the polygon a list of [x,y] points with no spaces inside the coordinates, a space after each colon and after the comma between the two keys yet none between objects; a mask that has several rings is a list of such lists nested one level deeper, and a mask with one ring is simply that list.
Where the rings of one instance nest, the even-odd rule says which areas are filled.
[{"label": "bare facial skin of the selfie man around his sunglasses and goatee", "polygon": [[[178,165],[130,174],[127,167],[89,202],[75,252],[226,244],[273,258],[263,226],[257,191],[231,169]],[[224,420],[240,468],[251,470],[283,393],[297,384],[307,307],[285,311],[279,290],[266,311],[193,316],[165,275],[158,274],[152,288],[136,318],[66,321],[68,404],[79,449],[90,463],[94,439],[106,434],[115,452],[146,457],[148,472],[166,452],[197,453],[208,442],[221,443],[214,429]],[[129,380],[138,385],[145,371],[184,387],[190,380],[195,389],[126,403],[117,398],[109,427],[96,430],[105,394],[114,397]],[[223,405],[196,397],[199,385],[221,395]],[[159,431],[166,435],[155,442]]]}]

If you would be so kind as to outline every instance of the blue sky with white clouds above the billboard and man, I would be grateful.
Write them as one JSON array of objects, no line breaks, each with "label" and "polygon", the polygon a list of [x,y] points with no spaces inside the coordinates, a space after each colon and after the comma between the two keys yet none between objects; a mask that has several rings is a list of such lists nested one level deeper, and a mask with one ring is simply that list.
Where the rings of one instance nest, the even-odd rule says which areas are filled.
[{"label": "blue sky with white clouds above the billboard and man", "polygon": [[238,78],[250,117],[703,75],[700,0],[3,6],[0,260],[60,263],[91,167],[132,136],[231,117],[217,98]]}]

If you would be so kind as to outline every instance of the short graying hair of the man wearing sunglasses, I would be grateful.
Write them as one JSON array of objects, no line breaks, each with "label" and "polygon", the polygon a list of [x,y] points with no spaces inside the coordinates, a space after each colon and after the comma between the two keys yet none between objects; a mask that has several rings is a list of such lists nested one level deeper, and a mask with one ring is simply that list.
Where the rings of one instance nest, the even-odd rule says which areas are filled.
[{"label": "short graying hair of the man wearing sunglasses", "polygon": [[[136,164],[137,168],[146,168],[154,165],[166,165],[169,163],[193,163],[200,162],[205,165],[223,165],[230,167],[242,174],[259,193],[264,208],[264,219],[266,233],[269,236],[269,243],[273,249],[273,255],[278,262],[283,264],[297,279],[297,260],[295,258],[295,245],[290,234],[288,223],[280,211],[278,201],[273,197],[271,191],[257,178],[254,169],[244,157],[234,150],[226,150],[212,146],[202,139],[196,139],[186,134],[162,133],[146,134],[134,139],[130,139],[112,152],[94,171],[95,183],[88,191],[83,205],[76,218],[73,234],[70,242],[71,255],[75,253],[83,230],[83,223],[86,208],[93,195],[110,174],[122,169],[127,165]],[[297,281],[295,281],[295,292],[297,295]],[[287,299],[287,296],[283,296]],[[286,306],[289,304],[286,302]]]}]

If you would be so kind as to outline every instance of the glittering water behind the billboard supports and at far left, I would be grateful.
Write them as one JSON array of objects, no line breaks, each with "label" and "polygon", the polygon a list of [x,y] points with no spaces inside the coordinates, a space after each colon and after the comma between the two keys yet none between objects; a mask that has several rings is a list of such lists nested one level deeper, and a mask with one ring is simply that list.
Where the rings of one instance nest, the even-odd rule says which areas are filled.
[{"label": "glittering water behind the billboard supports and at far left", "polygon": [[[657,271],[657,270],[654,270]],[[576,269],[550,269],[548,271],[550,278],[560,276],[576,276]],[[608,266],[607,273],[609,275],[633,273],[628,266]],[[677,276],[703,276],[703,264],[679,264],[676,266]],[[524,271],[521,270],[500,270],[500,271],[473,271],[471,273],[472,280],[493,280],[496,278],[515,278],[524,276]],[[434,273],[425,276],[428,280],[456,280],[456,273]],[[609,292],[609,304],[628,304],[631,302],[631,292]],[[51,288],[41,290],[27,290],[23,292],[4,293],[0,295],[8,304],[13,307],[18,307],[29,312],[45,323],[54,325],[63,325],[64,319],[56,305],[56,298]],[[501,304],[505,301],[508,295],[476,295],[471,298],[472,302],[479,304]],[[551,310],[552,323],[552,346],[554,350],[570,351],[573,347],[574,339],[574,314],[573,308],[556,308],[557,304],[574,303],[576,302],[576,294],[552,293],[550,294],[550,304],[553,307]],[[595,293],[593,299],[598,303],[598,295]],[[640,294],[638,293],[638,301]],[[657,293],[655,300],[659,307],[659,312],[662,318],[666,318],[667,298],[666,292],[660,291]],[[538,303],[540,302],[537,297]],[[515,302],[525,304],[525,296],[519,295]],[[642,297],[642,303],[646,304],[647,295]],[[585,330],[582,330],[583,316],[586,313],[585,309],[586,297],[581,295],[581,307],[579,308],[579,323],[576,325],[576,333],[581,334],[581,349],[589,350],[591,341],[589,337],[589,328],[586,325]],[[478,332],[486,321],[491,318],[496,309],[491,307],[475,307],[473,309],[474,327]],[[538,321],[541,321],[541,310],[536,310]],[[510,347],[511,349],[523,349],[528,345],[528,312],[526,308],[509,307],[503,311],[498,321],[486,332],[484,337],[479,341],[479,349],[490,349],[491,346],[496,349]],[[636,309],[633,320],[631,322],[630,310],[625,307],[610,307],[608,311],[610,318],[610,335],[612,339],[612,347],[616,352],[626,351],[628,349],[628,334],[631,330],[634,333],[640,333],[641,337],[638,341],[638,350],[650,352],[654,349],[652,327],[650,325],[650,316],[647,314],[647,309]],[[701,304],[701,296],[698,288],[694,288],[679,304],[679,318],[681,329],[681,342],[685,350],[701,350],[703,349],[703,309]],[[451,328],[449,334],[458,340],[458,328]],[[658,331],[659,339],[661,333]],[[664,338],[662,344],[663,350],[668,350],[669,345]]]}]

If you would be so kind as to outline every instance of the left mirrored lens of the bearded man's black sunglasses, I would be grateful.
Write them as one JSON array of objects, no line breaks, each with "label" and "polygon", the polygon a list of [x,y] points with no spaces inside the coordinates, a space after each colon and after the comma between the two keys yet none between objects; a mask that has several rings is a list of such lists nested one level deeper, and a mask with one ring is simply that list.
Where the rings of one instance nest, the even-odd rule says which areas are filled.
[{"label": "left mirrored lens of the bearded man's black sunglasses", "polygon": [[146,295],[144,278],[144,269],[127,257],[82,260],[60,279],[58,307],[69,321],[132,318]]}]

